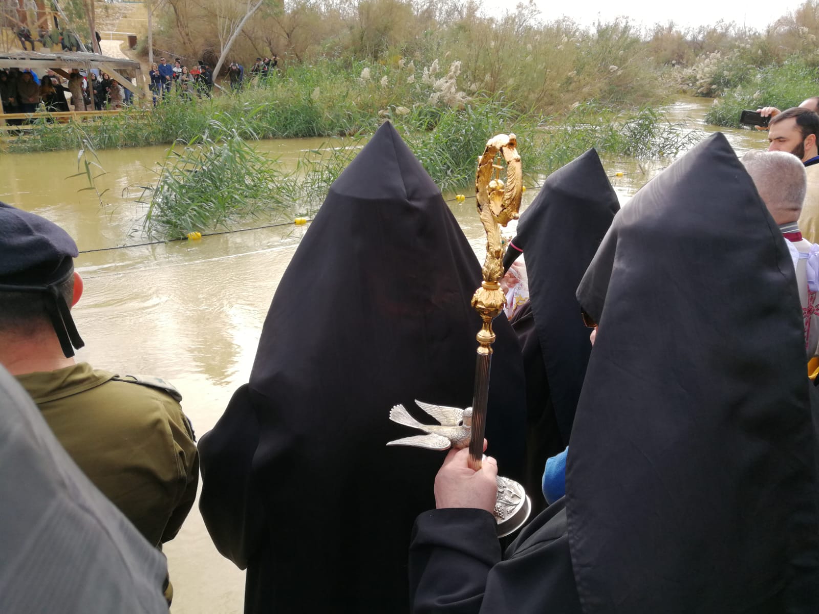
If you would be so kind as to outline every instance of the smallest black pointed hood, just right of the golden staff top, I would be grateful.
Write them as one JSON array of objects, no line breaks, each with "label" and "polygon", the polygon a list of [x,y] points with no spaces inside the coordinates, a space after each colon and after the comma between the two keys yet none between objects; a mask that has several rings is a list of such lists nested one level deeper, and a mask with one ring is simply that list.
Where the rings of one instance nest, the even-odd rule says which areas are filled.
[{"label": "smallest black pointed hood, just right of the golden staff top", "polygon": [[521,214],[507,251],[509,265],[510,255],[525,254],[532,315],[563,445],[591,350],[575,292],[619,209],[600,157],[590,149],[546,178]]}]

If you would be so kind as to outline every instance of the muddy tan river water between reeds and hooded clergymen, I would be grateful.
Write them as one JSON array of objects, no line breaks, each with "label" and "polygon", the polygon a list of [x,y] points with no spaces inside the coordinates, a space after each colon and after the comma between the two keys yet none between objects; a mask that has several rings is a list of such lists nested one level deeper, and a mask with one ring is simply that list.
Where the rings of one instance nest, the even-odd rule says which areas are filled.
[{"label": "muddy tan river water between reeds and hooded clergymen", "polygon": [[[667,111],[673,120],[705,135],[716,130],[703,124],[709,102],[684,98]],[[725,132],[740,154],[767,145],[766,133]],[[325,142],[293,139],[258,145],[289,164],[305,149]],[[76,264],[85,291],[74,313],[86,346],[78,358],[111,371],[156,374],[172,381],[201,435],[247,381],[270,300],[309,226],[111,249],[147,241],[139,232],[144,206],[135,201],[138,191],[129,193],[127,188],[152,181],[165,147],[98,154],[106,174],[97,186],[109,188],[104,207],[93,192],[79,192],[87,185],[82,178],[67,178],[77,172],[76,151],[0,153],[0,201],[60,224],[82,251]],[[640,166],[636,160],[609,158],[604,165],[621,200],[627,201],[669,162]],[[525,157],[523,164],[525,169]],[[526,202],[535,194],[528,190]],[[450,206],[476,252],[482,251],[484,235],[473,201],[450,201]],[[216,551],[197,507],[179,536],[166,544],[165,553],[174,581],[174,614],[242,612],[244,572]]]}]

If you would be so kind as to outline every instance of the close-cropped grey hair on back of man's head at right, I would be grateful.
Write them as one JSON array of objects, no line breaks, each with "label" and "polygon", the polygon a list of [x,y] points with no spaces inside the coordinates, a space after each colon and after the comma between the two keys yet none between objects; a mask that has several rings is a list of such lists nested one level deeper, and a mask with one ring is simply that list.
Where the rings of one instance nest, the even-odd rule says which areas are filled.
[{"label": "close-cropped grey hair on back of man's head at right", "polygon": [[802,160],[786,151],[749,151],[742,164],[771,214],[792,211],[795,221],[808,189]]}]

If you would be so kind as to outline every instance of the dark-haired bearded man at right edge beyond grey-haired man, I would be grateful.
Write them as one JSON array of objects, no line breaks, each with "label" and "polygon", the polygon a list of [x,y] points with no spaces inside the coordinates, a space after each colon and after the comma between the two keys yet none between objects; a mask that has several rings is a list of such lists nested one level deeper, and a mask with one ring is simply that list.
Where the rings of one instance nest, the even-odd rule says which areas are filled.
[{"label": "dark-haired bearded man at right edge beyond grey-haired man", "polygon": [[794,154],[805,165],[808,191],[799,215],[799,230],[809,242],[819,242],[819,115],[794,106],[776,115],[768,124],[768,151]]}]

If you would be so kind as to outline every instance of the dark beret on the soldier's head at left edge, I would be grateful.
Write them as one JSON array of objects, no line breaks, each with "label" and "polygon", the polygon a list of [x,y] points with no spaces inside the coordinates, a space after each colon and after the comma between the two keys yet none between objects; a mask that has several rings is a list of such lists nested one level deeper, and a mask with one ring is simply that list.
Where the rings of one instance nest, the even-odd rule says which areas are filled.
[{"label": "dark beret on the soldier's head at left edge", "polygon": [[56,223],[0,202],[0,279],[49,284],[77,244]]}]

